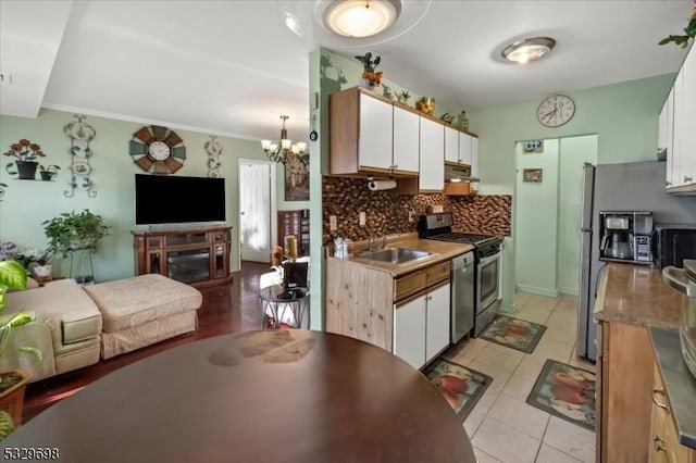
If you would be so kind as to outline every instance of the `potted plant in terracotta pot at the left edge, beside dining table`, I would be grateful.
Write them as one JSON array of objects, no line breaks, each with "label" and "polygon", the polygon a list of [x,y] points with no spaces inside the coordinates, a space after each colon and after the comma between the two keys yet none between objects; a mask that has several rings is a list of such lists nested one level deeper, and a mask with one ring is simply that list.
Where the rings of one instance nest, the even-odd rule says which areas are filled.
[{"label": "potted plant in terracotta pot at the left edge, beside dining table", "polygon": [[[5,293],[9,288],[25,289],[26,271],[16,261],[0,261],[0,313],[7,308]],[[12,329],[29,322],[32,316],[21,311],[0,323],[0,360],[13,353],[8,350]],[[38,362],[44,361],[44,353],[36,348],[21,347],[18,351],[34,355]],[[0,371],[0,440],[9,436],[15,425],[22,423],[24,390],[28,381],[28,375],[21,370]]]}]

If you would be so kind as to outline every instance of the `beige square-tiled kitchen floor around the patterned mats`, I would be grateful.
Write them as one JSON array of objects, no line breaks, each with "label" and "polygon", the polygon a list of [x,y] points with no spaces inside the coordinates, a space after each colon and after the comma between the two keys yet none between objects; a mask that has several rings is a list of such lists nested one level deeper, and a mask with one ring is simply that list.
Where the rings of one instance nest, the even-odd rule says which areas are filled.
[{"label": "beige square-tiled kitchen floor around the patterned mats", "polygon": [[469,339],[451,358],[494,378],[464,421],[480,463],[594,462],[595,434],[526,404],[547,359],[595,371],[575,356],[577,298],[518,292],[512,316],[546,325],[532,354]]}]

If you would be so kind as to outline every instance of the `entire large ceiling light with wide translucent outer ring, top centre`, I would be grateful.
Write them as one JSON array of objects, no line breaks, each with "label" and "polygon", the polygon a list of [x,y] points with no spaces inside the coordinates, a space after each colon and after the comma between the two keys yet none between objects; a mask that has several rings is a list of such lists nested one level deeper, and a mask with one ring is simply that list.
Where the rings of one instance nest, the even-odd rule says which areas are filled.
[{"label": "entire large ceiling light with wide translucent outer ring, top centre", "polygon": [[277,0],[285,26],[312,43],[364,49],[415,27],[433,0]]}]

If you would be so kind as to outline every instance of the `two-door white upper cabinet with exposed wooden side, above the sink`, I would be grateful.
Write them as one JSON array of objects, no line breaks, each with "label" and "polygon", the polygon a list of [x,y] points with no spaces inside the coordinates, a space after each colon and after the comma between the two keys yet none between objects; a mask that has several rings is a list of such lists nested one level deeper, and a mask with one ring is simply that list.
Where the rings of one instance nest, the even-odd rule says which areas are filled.
[{"label": "two-door white upper cabinet with exposed wooden side, above the sink", "polygon": [[417,176],[418,114],[406,112],[358,87],[332,93],[330,174]]}]

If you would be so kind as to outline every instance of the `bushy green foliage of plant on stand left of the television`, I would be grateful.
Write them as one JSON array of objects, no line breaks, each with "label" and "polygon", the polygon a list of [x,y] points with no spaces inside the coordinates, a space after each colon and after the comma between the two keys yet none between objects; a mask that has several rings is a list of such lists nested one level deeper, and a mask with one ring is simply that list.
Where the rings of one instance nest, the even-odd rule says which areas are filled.
[{"label": "bushy green foliage of plant on stand left of the television", "polygon": [[67,256],[69,251],[77,249],[96,250],[99,241],[109,235],[107,225],[99,214],[85,209],[82,212],[64,212],[45,221],[44,233],[49,239],[48,251]]}]

